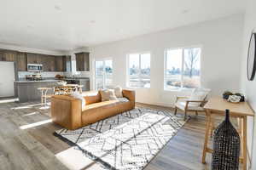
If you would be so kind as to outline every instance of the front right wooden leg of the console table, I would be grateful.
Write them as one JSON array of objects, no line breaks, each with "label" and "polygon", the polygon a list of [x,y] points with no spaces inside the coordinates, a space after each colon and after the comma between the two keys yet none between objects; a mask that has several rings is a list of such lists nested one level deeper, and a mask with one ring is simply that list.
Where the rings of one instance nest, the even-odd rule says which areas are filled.
[{"label": "front right wooden leg of the console table", "polygon": [[247,170],[247,116],[242,117],[242,169]]}]

